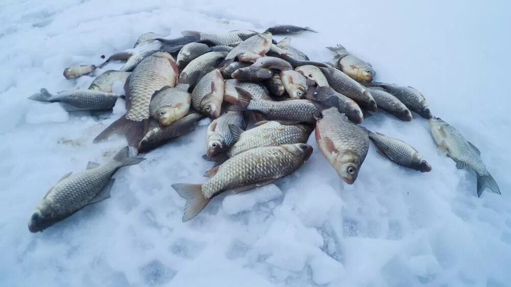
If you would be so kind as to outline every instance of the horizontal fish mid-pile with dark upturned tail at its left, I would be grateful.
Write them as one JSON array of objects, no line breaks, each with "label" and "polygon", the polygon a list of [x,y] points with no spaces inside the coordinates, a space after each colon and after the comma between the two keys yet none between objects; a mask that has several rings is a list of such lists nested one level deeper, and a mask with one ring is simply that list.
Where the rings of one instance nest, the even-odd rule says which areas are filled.
[{"label": "horizontal fish mid-pile with dark upturned tail at its left", "polygon": [[255,99],[247,91],[236,88],[238,90],[238,102],[235,106],[230,107],[233,110],[255,111],[270,120],[281,120],[289,123],[315,123],[319,115],[318,108],[306,99],[289,99],[285,101],[271,101],[263,99]]}]

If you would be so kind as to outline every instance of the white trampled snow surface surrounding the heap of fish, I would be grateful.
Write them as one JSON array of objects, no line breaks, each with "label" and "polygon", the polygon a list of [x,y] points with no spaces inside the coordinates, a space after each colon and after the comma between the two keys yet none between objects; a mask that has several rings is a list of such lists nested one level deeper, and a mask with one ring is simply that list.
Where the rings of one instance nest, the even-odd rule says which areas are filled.
[{"label": "white trampled snow surface surrounding the heap of fish", "polygon": [[[506,1],[14,1],[0,4],[1,286],[509,286],[509,2]],[[125,145],[92,139],[124,112],[67,115],[27,97],[87,88],[64,68],[100,63],[145,32],[264,30],[309,25],[292,45],[330,60],[343,44],[377,80],[413,86],[433,114],[482,151],[502,196],[476,195],[475,174],[438,156],[427,122],[378,114],[430,173],[394,165],[371,146],[353,186],[317,150],[276,186],[215,198],[182,223],[175,182],[204,182],[205,125],[115,178],[112,198],[32,234],[36,204],[69,171]],[[112,64],[105,68],[119,67]],[[105,69],[104,69],[105,70]],[[98,70],[95,75],[99,74]],[[205,123],[207,124],[207,122]]]}]

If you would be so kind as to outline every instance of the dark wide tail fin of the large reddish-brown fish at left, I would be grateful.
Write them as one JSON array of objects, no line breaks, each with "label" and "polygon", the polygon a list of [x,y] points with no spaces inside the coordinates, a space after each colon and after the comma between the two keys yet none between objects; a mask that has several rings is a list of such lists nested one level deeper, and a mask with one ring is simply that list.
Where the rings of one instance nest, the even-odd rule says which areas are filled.
[{"label": "dark wide tail fin of the large reddish-brown fish at left", "polygon": [[110,126],[105,128],[101,134],[99,134],[95,139],[94,143],[98,143],[106,140],[111,135],[124,135],[128,140],[129,146],[138,146],[138,143],[144,138],[147,132],[148,120],[142,121],[132,121],[126,118],[126,115],[123,115],[118,120],[114,121]]}]

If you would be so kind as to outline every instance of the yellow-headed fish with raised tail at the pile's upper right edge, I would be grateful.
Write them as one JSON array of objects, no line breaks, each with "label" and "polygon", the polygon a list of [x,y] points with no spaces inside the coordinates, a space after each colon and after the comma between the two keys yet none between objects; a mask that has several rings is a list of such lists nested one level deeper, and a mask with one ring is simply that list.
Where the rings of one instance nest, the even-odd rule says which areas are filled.
[{"label": "yellow-headed fish with raised tail at the pile's upper right edge", "polygon": [[376,71],[371,64],[353,56],[341,44],[337,44],[336,47],[327,47],[327,49],[337,54],[332,63],[346,75],[358,82],[373,81]]}]

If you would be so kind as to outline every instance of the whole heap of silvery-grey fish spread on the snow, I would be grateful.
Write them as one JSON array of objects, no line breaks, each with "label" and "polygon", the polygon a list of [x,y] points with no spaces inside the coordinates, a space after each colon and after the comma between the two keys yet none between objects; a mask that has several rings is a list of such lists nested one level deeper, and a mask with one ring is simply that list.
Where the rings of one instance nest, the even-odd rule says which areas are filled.
[{"label": "whole heap of silvery-grey fish spread on the snow", "polygon": [[[369,112],[384,111],[402,121],[415,113],[429,120],[438,149],[477,173],[477,195],[485,188],[500,194],[482,163],[479,150],[453,126],[434,117],[424,96],[412,87],[374,82],[375,69],[341,45],[330,62],[311,61],[290,45],[291,38],[274,35],[316,31],[276,25],[265,32],[250,30],[210,34],[184,31],[168,39],[146,33],[135,53],[121,51],[100,65],[65,69],[66,79],[100,71],[110,62],[125,61],[119,70],[106,70],[88,89],[51,94],[46,89],[30,96],[58,102],[66,111],[109,111],[120,97],[126,114],[94,142],[117,134],[137,152],[149,152],[177,137],[192,133],[200,120],[211,118],[204,156],[215,162],[202,185],[174,184],[186,200],[183,221],[194,218],[224,191],[242,192],[283,178],[311,156],[306,144],[314,131],[319,150],[347,184],[353,184],[373,142],[386,159],[421,172],[431,166],[407,143],[360,126]],[[140,49],[160,43],[159,50]],[[124,95],[113,92],[124,84]],[[249,128],[247,128],[249,127]],[[42,199],[32,215],[32,232],[109,197],[121,167],[141,162],[124,148],[109,163],[89,163],[87,170],[65,175]]]}]

